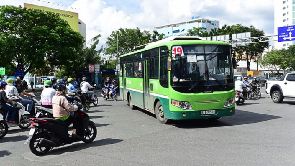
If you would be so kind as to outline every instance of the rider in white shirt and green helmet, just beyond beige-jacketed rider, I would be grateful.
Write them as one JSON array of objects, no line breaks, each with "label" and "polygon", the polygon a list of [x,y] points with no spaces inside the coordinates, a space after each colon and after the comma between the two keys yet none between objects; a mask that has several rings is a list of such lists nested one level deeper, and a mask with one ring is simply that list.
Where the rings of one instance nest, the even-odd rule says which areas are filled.
[{"label": "rider in white shirt and green helmet, just beyond beige-jacketed rider", "polygon": [[56,94],[55,89],[52,88],[52,83],[50,80],[44,81],[44,89],[41,93],[41,103],[42,106],[52,109],[52,98]]}]

